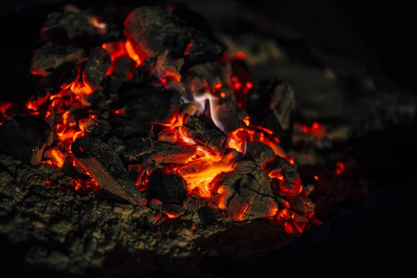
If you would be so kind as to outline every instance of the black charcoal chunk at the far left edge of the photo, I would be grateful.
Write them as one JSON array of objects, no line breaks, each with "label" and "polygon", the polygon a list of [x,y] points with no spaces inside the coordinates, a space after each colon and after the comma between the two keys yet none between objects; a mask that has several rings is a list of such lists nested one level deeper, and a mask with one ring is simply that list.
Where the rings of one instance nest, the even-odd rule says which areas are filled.
[{"label": "black charcoal chunk at the far left edge of the photo", "polygon": [[51,126],[38,117],[14,115],[0,126],[0,153],[38,165],[51,131]]}]

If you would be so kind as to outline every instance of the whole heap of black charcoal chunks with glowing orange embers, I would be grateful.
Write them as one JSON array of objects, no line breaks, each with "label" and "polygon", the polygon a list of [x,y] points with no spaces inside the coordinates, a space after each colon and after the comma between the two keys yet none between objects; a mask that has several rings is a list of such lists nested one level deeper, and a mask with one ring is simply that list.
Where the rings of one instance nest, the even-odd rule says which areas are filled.
[{"label": "whole heap of black charcoal chunks with glowing orange embers", "polygon": [[[73,20],[84,22],[78,31],[63,28]],[[304,128],[293,124],[291,86],[252,83],[236,70],[244,54],[229,57],[170,10],[133,10],[124,40],[110,31],[80,10],[47,19],[31,63],[38,90],[22,113],[1,104],[0,151],[59,168],[69,190],[101,188],[158,219],[186,215],[198,197],[197,209],[219,219],[271,218],[304,231],[313,188],[282,142]],[[98,39],[85,47],[85,36]]]}]

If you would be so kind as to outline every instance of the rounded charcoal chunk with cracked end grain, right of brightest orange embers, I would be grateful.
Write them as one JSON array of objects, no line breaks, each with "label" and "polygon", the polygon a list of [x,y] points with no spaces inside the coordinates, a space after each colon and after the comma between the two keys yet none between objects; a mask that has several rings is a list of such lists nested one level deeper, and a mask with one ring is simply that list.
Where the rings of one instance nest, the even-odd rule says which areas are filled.
[{"label": "rounded charcoal chunk with cracked end grain, right of brightest orange embers", "polygon": [[278,206],[272,197],[270,177],[254,161],[234,164],[234,171],[218,174],[211,183],[217,204],[233,220],[273,216]]}]

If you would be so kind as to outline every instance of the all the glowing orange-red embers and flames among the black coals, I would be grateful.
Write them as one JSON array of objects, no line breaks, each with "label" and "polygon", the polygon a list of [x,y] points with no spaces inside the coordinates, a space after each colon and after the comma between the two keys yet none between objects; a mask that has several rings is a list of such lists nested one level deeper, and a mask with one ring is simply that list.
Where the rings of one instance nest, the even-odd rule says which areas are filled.
[{"label": "all the glowing orange-red embers and flames among the black coals", "polygon": [[[168,8],[168,10],[172,10],[172,8]],[[96,26],[100,32],[106,32],[107,26],[106,24],[99,22],[99,17],[91,17],[90,24]],[[145,49],[143,44],[141,45],[143,49]],[[183,49],[184,56],[188,56],[190,51],[193,51],[193,48],[195,47],[197,47],[197,44],[195,45],[193,42],[188,43],[186,48]],[[135,42],[131,38],[118,42],[106,42],[101,44],[101,48],[106,50],[111,56],[111,65],[106,72],[106,76],[115,74],[117,61],[122,58],[127,58],[127,60],[129,60],[129,58],[131,59],[132,65],[128,65],[128,67],[131,67],[127,76],[129,81],[133,79],[133,73],[138,67],[143,67],[154,59],[154,57],[150,57],[151,54],[149,54],[149,52],[145,53],[145,51],[140,49],[138,42]],[[238,52],[235,58],[244,60],[245,54],[243,52]],[[227,54],[224,54],[221,59],[224,63],[229,60],[230,58]],[[51,124],[52,129],[54,130],[54,140],[44,151],[44,158],[46,159],[44,163],[61,170],[73,170],[77,172],[78,175],[74,176],[76,178],[72,180],[74,190],[98,190],[99,184],[97,181],[100,183],[102,182],[97,173],[95,174],[92,170],[90,171],[93,174],[93,177],[97,179],[97,181],[95,181],[86,169],[87,167],[85,166],[84,168],[84,166],[81,165],[81,158],[79,158],[79,156],[77,156],[79,158],[79,161],[77,161],[74,156],[74,154],[77,153],[75,150],[74,154],[72,153],[71,146],[73,145],[74,147],[76,145],[76,143],[73,144],[73,142],[77,138],[86,136],[94,129],[98,125],[99,120],[108,117],[104,114],[127,116],[126,114],[129,114],[129,110],[127,108],[106,108],[107,110],[103,114],[95,111],[95,106],[90,104],[90,101],[91,98],[95,96],[94,94],[99,91],[99,88],[97,87],[97,83],[99,82],[95,83],[95,81],[90,80],[90,83],[85,76],[85,72],[82,70],[82,64],[78,66],[79,70],[74,74],[76,79],[71,79],[74,81],[61,85],[60,92],[58,93],[47,92],[47,94],[42,97],[27,101],[24,107],[24,113],[42,117]],[[106,69],[107,67],[103,70],[103,74]],[[185,83],[183,79],[186,79],[187,76],[181,76],[179,72],[172,69],[173,67],[170,67],[160,75],[155,74],[155,76],[158,76],[160,82],[158,83],[158,81],[156,81],[156,83],[160,86],[169,86],[172,83],[183,85],[183,83]],[[33,72],[33,74],[39,75],[40,73]],[[194,112],[198,116],[204,115],[204,117],[207,117],[207,120],[204,120],[204,122],[210,122],[213,126],[217,126],[218,129],[220,129],[219,132],[224,131],[225,129],[223,129],[224,126],[222,126],[222,122],[219,120],[220,117],[215,113],[216,106],[222,104],[222,101],[227,101],[228,99],[234,99],[234,97],[236,97],[236,101],[234,99],[235,104],[244,109],[246,107],[246,95],[254,88],[254,83],[250,81],[250,76],[242,78],[240,75],[239,77],[227,75],[227,80],[225,79],[216,78],[210,85],[207,85],[206,83],[206,92],[202,92],[202,94],[199,95],[195,94],[192,99],[192,101],[195,101],[195,106],[202,106],[202,109],[200,109],[200,107],[195,108],[193,115]],[[95,85],[92,85],[92,83],[95,83]],[[233,91],[235,92],[234,95]],[[239,93],[237,93],[237,91]],[[0,104],[0,120],[3,120],[3,118],[6,119],[9,116],[7,112],[12,105],[13,104],[8,103]],[[206,107],[206,105],[208,105],[208,107]],[[82,111],[80,113],[83,113],[83,116],[76,115],[74,111]],[[204,111],[204,114],[202,111]],[[188,111],[188,113],[190,112]],[[186,121],[190,115],[186,114],[184,111],[173,114],[174,115],[170,115],[167,119],[152,122],[152,131],[156,132],[155,137],[158,141],[167,142],[172,145],[181,145],[181,147],[190,147],[190,149],[193,149],[193,155],[190,155],[190,157],[187,156],[181,163],[155,163],[155,165],[150,167],[146,163],[129,165],[129,173],[134,172],[136,174],[132,179],[135,181],[135,185],[140,192],[147,191],[147,183],[152,171],[155,170],[155,168],[160,168],[165,174],[177,174],[185,179],[187,182],[188,194],[197,195],[198,197],[210,201],[218,198],[218,207],[215,209],[220,208],[224,211],[227,208],[227,196],[232,195],[232,193],[230,193],[230,189],[227,189],[224,184],[221,184],[218,187],[213,186],[215,177],[218,177],[220,174],[228,174],[235,169],[234,166],[236,166],[236,163],[239,163],[238,158],[243,157],[246,154],[248,143],[260,142],[263,145],[270,147],[275,156],[286,158],[291,164],[295,163],[294,159],[291,156],[288,156],[281,147],[281,140],[275,136],[275,133],[263,126],[254,124],[256,121],[253,118],[251,120],[249,116],[245,116],[241,119],[241,122],[237,122],[236,126],[239,125],[239,127],[234,131],[231,131],[229,134],[222,133],[222,136],[224,136],[222,137],[222,140],[220,140],[220,142],[222,142],[222,148],[218,147],[215,149],[215,151],[222,149],[222,152],[215,152],[207,146],[210,142],[204,142],[201,138],[197,138],[198,136],[193,136],[192,132],[186,128]],[[322,138],[326,134],[324,126],[317,122],[313,122],[311,126],[297,125],[295,127],[304,133],[312,134],[318,138]],[[216,129],[216,131],[218,129]],[[206,135],[206,133],[204,135]],[[145,139],[143,139],[143,141],[145,142]],[[84,152],[82,147],[79,147],[79,150]],[[106,149],[105,152],[111,151]],[[301,233],[306,227],[306,218],[291,211],[290,199],[288,198],[304,192],[303,189],[305,190],[305,187],[302,186],[301,179],[291,180],[290,182],[286,180],[285,172],[281,173],[280,171],[275,170],[266,172],[262,165],[256,167],[256,169],[259,169],[260,172],[266,176],[266,178],[263,178],[263,181],[266,181],[268,185],[271,180],[278,184],[277,187],[279,187],[280,193],[284,197],[281,201],[282,204],[284,204],[284,208],[283,206],[277,206],[275,203],[276,201],[271,198],[273,206],[268,206],[268,218],[275,218],[276,216],[276,219],[284,224],[285,230],[288,233]],[[345,167],[343,163],[336,164],[336,174],[341,174],[344,170]],[[314,176],[314,179],[318,180],[318,176]],[[52,182],[47,180],[47,184],[52,184]],[[134,186],[133,188],[136,190]],[[185,191],[184,188],[184,194]],[[285,199],[286,197],[288,200]],[[247,201],[247,203],[244,203],[239,207],[236,214],[231,218],[238,221],[247,219],[247,215],[250,215],[251,213],[251,205],[252,203]],[[165,213],[167,218],[179,217],[179,215],[175,213],[163,213]],[[156,220],[159,220],[161,215],[162,213],[157,214]],[[227,215],[227,213],[223,212],[222,215]],[[193,226],[193,230],[195,229],[197,228]]]}]

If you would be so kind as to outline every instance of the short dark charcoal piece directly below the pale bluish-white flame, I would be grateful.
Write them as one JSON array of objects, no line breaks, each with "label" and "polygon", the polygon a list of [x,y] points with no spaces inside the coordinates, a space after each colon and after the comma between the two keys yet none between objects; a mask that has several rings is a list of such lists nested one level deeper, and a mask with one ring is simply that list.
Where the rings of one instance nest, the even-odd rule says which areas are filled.
[{"label": "short dark charcoal piece directly below the pale bluish-white flame", "polygon": [[181,131],[187,138],[192,138],[207,152],[214,156],[223,156],[226,149],[227,135],[217,126],[191,115],[184,115]]}]

